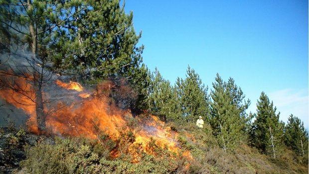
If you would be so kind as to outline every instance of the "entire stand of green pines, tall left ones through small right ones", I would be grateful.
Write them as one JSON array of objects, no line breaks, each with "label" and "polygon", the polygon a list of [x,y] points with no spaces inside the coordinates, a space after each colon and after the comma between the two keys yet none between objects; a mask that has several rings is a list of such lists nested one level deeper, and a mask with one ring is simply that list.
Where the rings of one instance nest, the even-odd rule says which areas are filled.
[{"label": "entire stand of green pines, tall left ones through small right ones", "polygon": [[35,60],[28,71],[34,77],[42,130],[41,94],[49,75],[38,69],[90,85],[125,79],[136,92],[127,106],[134,113],[148,111],[178,125],[194,125],[202,116],[227,154],[246,144],[274,159],[285,149],[308,156],[303,121],[293,114],[287,123],[281,121],[276,103],[265,92],[256,113],[249,114],[251,101],[233,78],[225,81],[217,74],[207,87],[189,66],[175,83],[165,80],[158,69],[150,72],[143,63],[144,46],[138,46],[141,33],[134,30],[133,13],[126,14],[119,0],[1,0],[0,36],[2,62],[8,57]]}]

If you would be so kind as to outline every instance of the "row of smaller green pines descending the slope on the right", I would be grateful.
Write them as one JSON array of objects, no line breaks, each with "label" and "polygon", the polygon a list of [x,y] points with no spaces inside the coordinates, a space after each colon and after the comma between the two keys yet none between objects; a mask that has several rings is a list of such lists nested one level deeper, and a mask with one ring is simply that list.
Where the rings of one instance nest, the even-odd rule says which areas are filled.
[{"label": "row of smaller green pines descending the slope on the right", "polygon": [[293,149],[300,156],[308,154],[308,132],[304,123],[293,114],[287,124],[280,121],[280,112],[264,92],[257,102],[257,112],[247,114],[251,101],[245,99],[232,78],[224,82],[217,74],[208,94],[207,87],[190,67],[186,79],[178,78],[175,87],[164,80],[158,70],[154,74],[150,111],[159,116],[163,114],[162,120],[193,124],[202,116],[225,152],[245,143],[273,158],[280,156],[285,148]]}]

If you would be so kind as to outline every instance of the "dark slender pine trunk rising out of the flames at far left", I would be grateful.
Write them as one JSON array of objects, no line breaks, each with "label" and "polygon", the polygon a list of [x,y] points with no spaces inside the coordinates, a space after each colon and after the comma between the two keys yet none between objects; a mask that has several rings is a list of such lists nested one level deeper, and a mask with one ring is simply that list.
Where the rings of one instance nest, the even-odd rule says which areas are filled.
[{"label": "dark slender pine trunk rising out of the flames at far left", "polygon": [[[32,4],[30,0],[27,0],[28,9],[32,8]],[[43,105],[43,97],[42,97],[42,74],[39,73],[38,70],[35,69],[35,61],[37,55],[37,36],[34,30],[34,24],[30,21],[29,24],[29,33],[31,36],[30,42],[30,51],[32,53],[32,68],[33,68],[33,85],[35,90],[35,111],[36,111],[36,121],[38,130],[40,132],[44,132],[46,130],[45,125],[45,114],[44,114],[44,105]]]}]

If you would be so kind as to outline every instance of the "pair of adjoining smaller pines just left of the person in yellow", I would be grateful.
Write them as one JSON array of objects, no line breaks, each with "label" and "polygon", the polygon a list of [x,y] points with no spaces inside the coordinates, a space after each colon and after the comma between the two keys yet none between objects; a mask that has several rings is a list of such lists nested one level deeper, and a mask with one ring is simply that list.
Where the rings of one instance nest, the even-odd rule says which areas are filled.
[{"label": "pair of adjoining smaller pines just left of the person in yellow", "polygon": [[208,117],[208,95],[199,75],[190,67],[184,80],[177,79],[174,87],[155,69],[150,85],[149,105],[153,114],[166,121],[191,121]]}]

